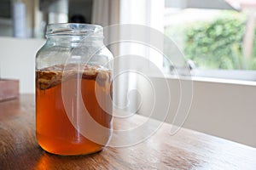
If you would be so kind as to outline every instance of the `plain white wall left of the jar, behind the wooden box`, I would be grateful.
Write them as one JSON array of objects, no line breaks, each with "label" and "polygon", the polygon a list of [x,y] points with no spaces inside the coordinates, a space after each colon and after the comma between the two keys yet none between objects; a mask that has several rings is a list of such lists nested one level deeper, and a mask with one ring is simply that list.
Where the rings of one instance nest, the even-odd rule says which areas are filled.
[{"label": "plain white wall left of the jar, behind the wooden box", "polygon": [[35,56],[44,41],[0,37],[0,77],[20,80],[20,94],[35,93]]}]

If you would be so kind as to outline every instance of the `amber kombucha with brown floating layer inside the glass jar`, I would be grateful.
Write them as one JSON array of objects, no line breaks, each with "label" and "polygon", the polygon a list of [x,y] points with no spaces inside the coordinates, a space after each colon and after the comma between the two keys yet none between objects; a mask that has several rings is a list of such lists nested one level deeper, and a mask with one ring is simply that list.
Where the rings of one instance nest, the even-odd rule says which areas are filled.
[{"label": "amber kombucha with brown floating layer inside the glass jar", "polygon": [[[55,65],[36,71],[36,123],[37,139],[40,146],[58,155],[84,155],[102,150],[104,144],[97,144],[84,137],[72,122],[83,122],[76,101],[79,90],[90,116],[102,127],[107,127],[102,135],[106,144],[112,126],[112,75],[101,67],[83,65]],[[63,71],[64,70],[64,71]],[[70,99],[73,115],[67,116],[61,87],[65,85],[65,96]],[[96,93],[97,89],[97,93]],[[105,109],[103,109],[105,108]],[[106,111],[106,108],[108,108]],[[72,120],[71,120],[72,119]],[[94,131],[94,127],[88,127]],[[93,132],[97,133],[97,132]],[[104,143],[103,142],[103,143]]]}]

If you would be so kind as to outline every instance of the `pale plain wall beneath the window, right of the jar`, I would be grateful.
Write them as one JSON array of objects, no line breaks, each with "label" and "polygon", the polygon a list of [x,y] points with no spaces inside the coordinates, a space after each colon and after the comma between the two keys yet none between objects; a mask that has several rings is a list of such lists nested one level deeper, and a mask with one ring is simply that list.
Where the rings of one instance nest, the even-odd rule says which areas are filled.
[{"label": "pale plain wall beneath the window, right of the jar", "polygon": [[[154,93],[160,94],[161,99],[166,100],[167,94],[162,88],[165,83],[163,78],[151,78],[151,81],[154,84]],[[179,106],[180,83],[172,78],[167,79],[167,82],[171,87],[171,108],[166,122],[172,122]],[[181,82],[188,83],[185,80]],[[144,87],[143,83],[140,86]],[[143,105],[138,112],[147,116],[148,105],[152,105],[153,100],[148,97],[150,89],[142,87],[139,91],[143,96]],[[188,94],[183,95],[184,102],[187,103],[189,86],[183,88],[183,92]],[[256,147],[255,101],[255,82],[194,81],[191,108],[183,127]],[[185,114],[187,106],[181,105],[178,112],[180,117]],[[155,107],[159,115],[166,111],[162,105]]]}]

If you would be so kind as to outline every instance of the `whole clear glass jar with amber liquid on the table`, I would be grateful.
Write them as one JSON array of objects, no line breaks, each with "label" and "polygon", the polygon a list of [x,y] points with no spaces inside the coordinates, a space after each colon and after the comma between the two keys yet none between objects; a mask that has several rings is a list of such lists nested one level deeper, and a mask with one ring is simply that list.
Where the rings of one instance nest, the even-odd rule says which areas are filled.
[{"label": "whole clear glass jar with amber liquid on the table", "polygon": [[36,56],[38,144],[57,155],[102,150],[112,134],[113,55],[102,26],[53,24]]}]

